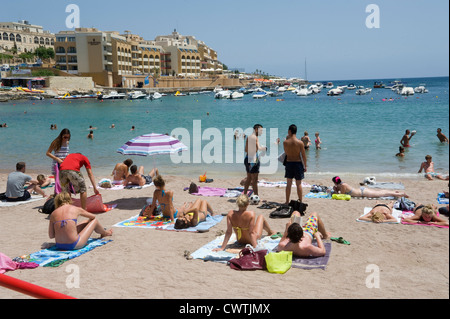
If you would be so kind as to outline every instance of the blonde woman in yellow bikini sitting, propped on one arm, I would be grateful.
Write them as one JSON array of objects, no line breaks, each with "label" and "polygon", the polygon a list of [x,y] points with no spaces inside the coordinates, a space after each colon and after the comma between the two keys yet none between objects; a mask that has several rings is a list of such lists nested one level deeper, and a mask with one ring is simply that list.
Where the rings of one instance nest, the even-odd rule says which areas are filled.
[{"label": "blonde woman in yellow bikini sitting, propped on one arm", "polygon": [[238,210],[231,210],[227,215],[227,231],[222,246],[214,249],[214,251],[225,250],[233,230],[235,231],[237,241],[240,244],[250,244],[253,247],[257,246],[258,239],[261,238],[263,230],[267,231],[269,236],[275,234],[264,216],[260,215],[256,217],[255,212],[247,210],[250,203],[247,195],[240,195],[237,198],[236,203],[238,205]]}]

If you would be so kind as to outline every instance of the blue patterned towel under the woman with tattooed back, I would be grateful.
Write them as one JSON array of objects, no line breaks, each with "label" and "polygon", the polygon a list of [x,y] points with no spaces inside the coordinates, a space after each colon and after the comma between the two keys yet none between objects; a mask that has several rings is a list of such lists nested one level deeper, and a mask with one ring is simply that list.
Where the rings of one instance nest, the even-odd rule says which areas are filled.
[{"label": "blue patterned towel under the woman with tattooed back", "polygon": [[30,254],[28,260],[30,262],[37,263],[41,267],[59,267],[66,261],[84,255],[85,253],[90,252],[97,247],[106,245],[111,241],[111,239],[91,238],[88,240],[88,243],[85,247],[72,251],[58,250],[56,246],[53,246],[51,248],[43,249],[36,253]]}]

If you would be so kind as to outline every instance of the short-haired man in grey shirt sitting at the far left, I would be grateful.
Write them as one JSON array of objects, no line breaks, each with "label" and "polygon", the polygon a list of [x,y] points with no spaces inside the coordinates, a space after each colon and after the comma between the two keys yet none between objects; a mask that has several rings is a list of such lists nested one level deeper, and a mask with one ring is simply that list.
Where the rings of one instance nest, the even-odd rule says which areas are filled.
[{"label": "short-haired man in grey shirt sitting at the far left", "polygon": [[33,192],[46,197],[45,192],[39,186],[39,182],[26,175],[25,170],[26,164],[19,162],[16,164],[16,171],[8,175],[5,193],[7,202],[27,201],[31,198]]}]

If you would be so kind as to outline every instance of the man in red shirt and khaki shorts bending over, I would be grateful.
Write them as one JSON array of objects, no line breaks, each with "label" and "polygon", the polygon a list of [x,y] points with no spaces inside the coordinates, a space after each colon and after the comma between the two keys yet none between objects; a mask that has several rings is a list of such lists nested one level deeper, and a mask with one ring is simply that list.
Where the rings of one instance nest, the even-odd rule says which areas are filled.
[{"label": "man in red shirt and khaki shorts bending over", "polygon": [[86,210],[87,187],[83,175],[80,172],[81,167],[86,168],[88,177],[94,188],[95,195],[100,194],[92,174],[91,163],[89,159],[80,153],[69,154],[60,166],[59,181],[62,188],[69,191],[69,183],[72,184],[75,193],[80,194],[81,208]]}]

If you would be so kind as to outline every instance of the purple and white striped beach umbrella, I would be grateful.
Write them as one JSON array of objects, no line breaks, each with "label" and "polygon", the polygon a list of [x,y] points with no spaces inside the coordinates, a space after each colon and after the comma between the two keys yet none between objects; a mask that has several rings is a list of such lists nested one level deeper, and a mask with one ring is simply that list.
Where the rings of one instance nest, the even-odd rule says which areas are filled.
[{"label": "purple and white striped beach umbrella", "polygon": [[123,155],[163,155],[186,151],[187,147],[176,138],[164,134],[138,136],[117,150]]}]

